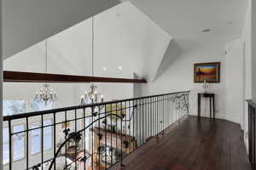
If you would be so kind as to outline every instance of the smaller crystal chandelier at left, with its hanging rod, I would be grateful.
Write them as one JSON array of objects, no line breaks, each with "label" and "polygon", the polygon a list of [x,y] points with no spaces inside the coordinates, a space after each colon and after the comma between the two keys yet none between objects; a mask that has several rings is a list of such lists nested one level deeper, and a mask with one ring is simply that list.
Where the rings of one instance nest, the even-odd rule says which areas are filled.
[{"label": "smaller crystal chandelier at left, with its hanging rod", "polygon": [[[45,40],[45,73],[47,73],[47,40]],[[49,84],[43,84],[43,88],[40,88],[39,91],[36,92],[36,96],[34,100],[36,102],[44,102],[47,105],[48,102],[54,102],[57,99],[56,92],[53,88],[49,88]]]}]

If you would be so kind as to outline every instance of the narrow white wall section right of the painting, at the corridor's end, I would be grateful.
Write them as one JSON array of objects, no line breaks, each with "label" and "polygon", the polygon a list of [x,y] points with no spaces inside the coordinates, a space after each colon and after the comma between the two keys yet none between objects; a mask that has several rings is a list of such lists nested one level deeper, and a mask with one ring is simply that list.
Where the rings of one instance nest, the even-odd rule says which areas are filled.
[{"label": "narrow white wall section right of the painting, at the corridor's end", "polygon": [[225,46],[225,117],[244,127],[244,43],[238,39]]}]

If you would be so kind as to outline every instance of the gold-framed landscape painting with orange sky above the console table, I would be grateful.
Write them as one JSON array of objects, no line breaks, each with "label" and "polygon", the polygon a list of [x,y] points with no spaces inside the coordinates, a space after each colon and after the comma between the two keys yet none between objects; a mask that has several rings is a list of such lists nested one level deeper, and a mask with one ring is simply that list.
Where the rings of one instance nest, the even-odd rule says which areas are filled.
[{"label": "gold-framed landscape painting with orange sky above the console table", "polygon": [[194,82],[220,82],[220,62],[194,64]]}]

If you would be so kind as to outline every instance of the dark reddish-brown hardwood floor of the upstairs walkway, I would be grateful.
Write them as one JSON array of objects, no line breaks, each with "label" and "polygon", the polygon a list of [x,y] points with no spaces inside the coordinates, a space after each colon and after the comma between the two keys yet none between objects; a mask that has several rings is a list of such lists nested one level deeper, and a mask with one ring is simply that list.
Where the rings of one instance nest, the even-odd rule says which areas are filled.
[{"label": "dark reddish-brown hardwood floor of the upstairs walkway", "polygon": [[[187,116],[164,139],[125,157],[125,170],[250,170],[241,128],[234,122]],[[121,169],[120,163],[111,170]]]}]

